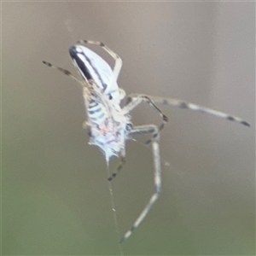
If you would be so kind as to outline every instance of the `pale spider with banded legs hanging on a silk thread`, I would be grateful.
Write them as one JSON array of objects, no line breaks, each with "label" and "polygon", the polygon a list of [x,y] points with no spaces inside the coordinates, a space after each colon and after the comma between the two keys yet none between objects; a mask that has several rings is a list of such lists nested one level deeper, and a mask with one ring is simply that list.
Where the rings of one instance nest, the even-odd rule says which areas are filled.
[{"label": "pale spider with banded legs hanging on a silk thread", "polygon": [[[97,55],[94,51],[86,48],[84,44],[94,44],[102,47],[109,55],[113,57],[113,69],[108,63]],[[117,173],[125,164],[125,142],[135,134],[151,134],[146,144],[151,144],[154,160],[154,194],[150,197],[148,204],[137,217],[131,228],[125,232],[125,235],[119,240],[120,243],[126,241],[134,230],[143,222],[150,209],[158,200],[161,191],[161,166],[160,166],[160,131],[168,121],[166,115],[162,113],[155,103],[169,105],[178,108],[189,108],[202,113],[209,113],[223,119],[235,121],[241,125],[250,126],[246,121],[232,116],[228,113],[219,112],[211,108],[201,107],[194,103],[185,102],[173,98],[148,96],[145,94],[131,94],[126,96],[126,102],[123,107],[120,102],[125,98],[125,90],[119,88],[117,79],[122,67],[122,60],[107,45],[98,41],[79,40],[77,44],[69,49],[74,66],[78,69],[82,80],[77,79],[72,73],[61,67],[55,67],[49,62],[43,61],[48,67],[53,67],[61,73],[75,79],[82,85],[84,95],[84,105],[87,112],[87,121],[84,127],[88,129],[90,144],[102,148],[106,161],[115,155],[119,156],[120,161],[115,172],[108,177],[112,181]],[[131,111],[137,108],[142,102],[148,105],[160,114],[161,125],[133,125],[131,123]]]}]

